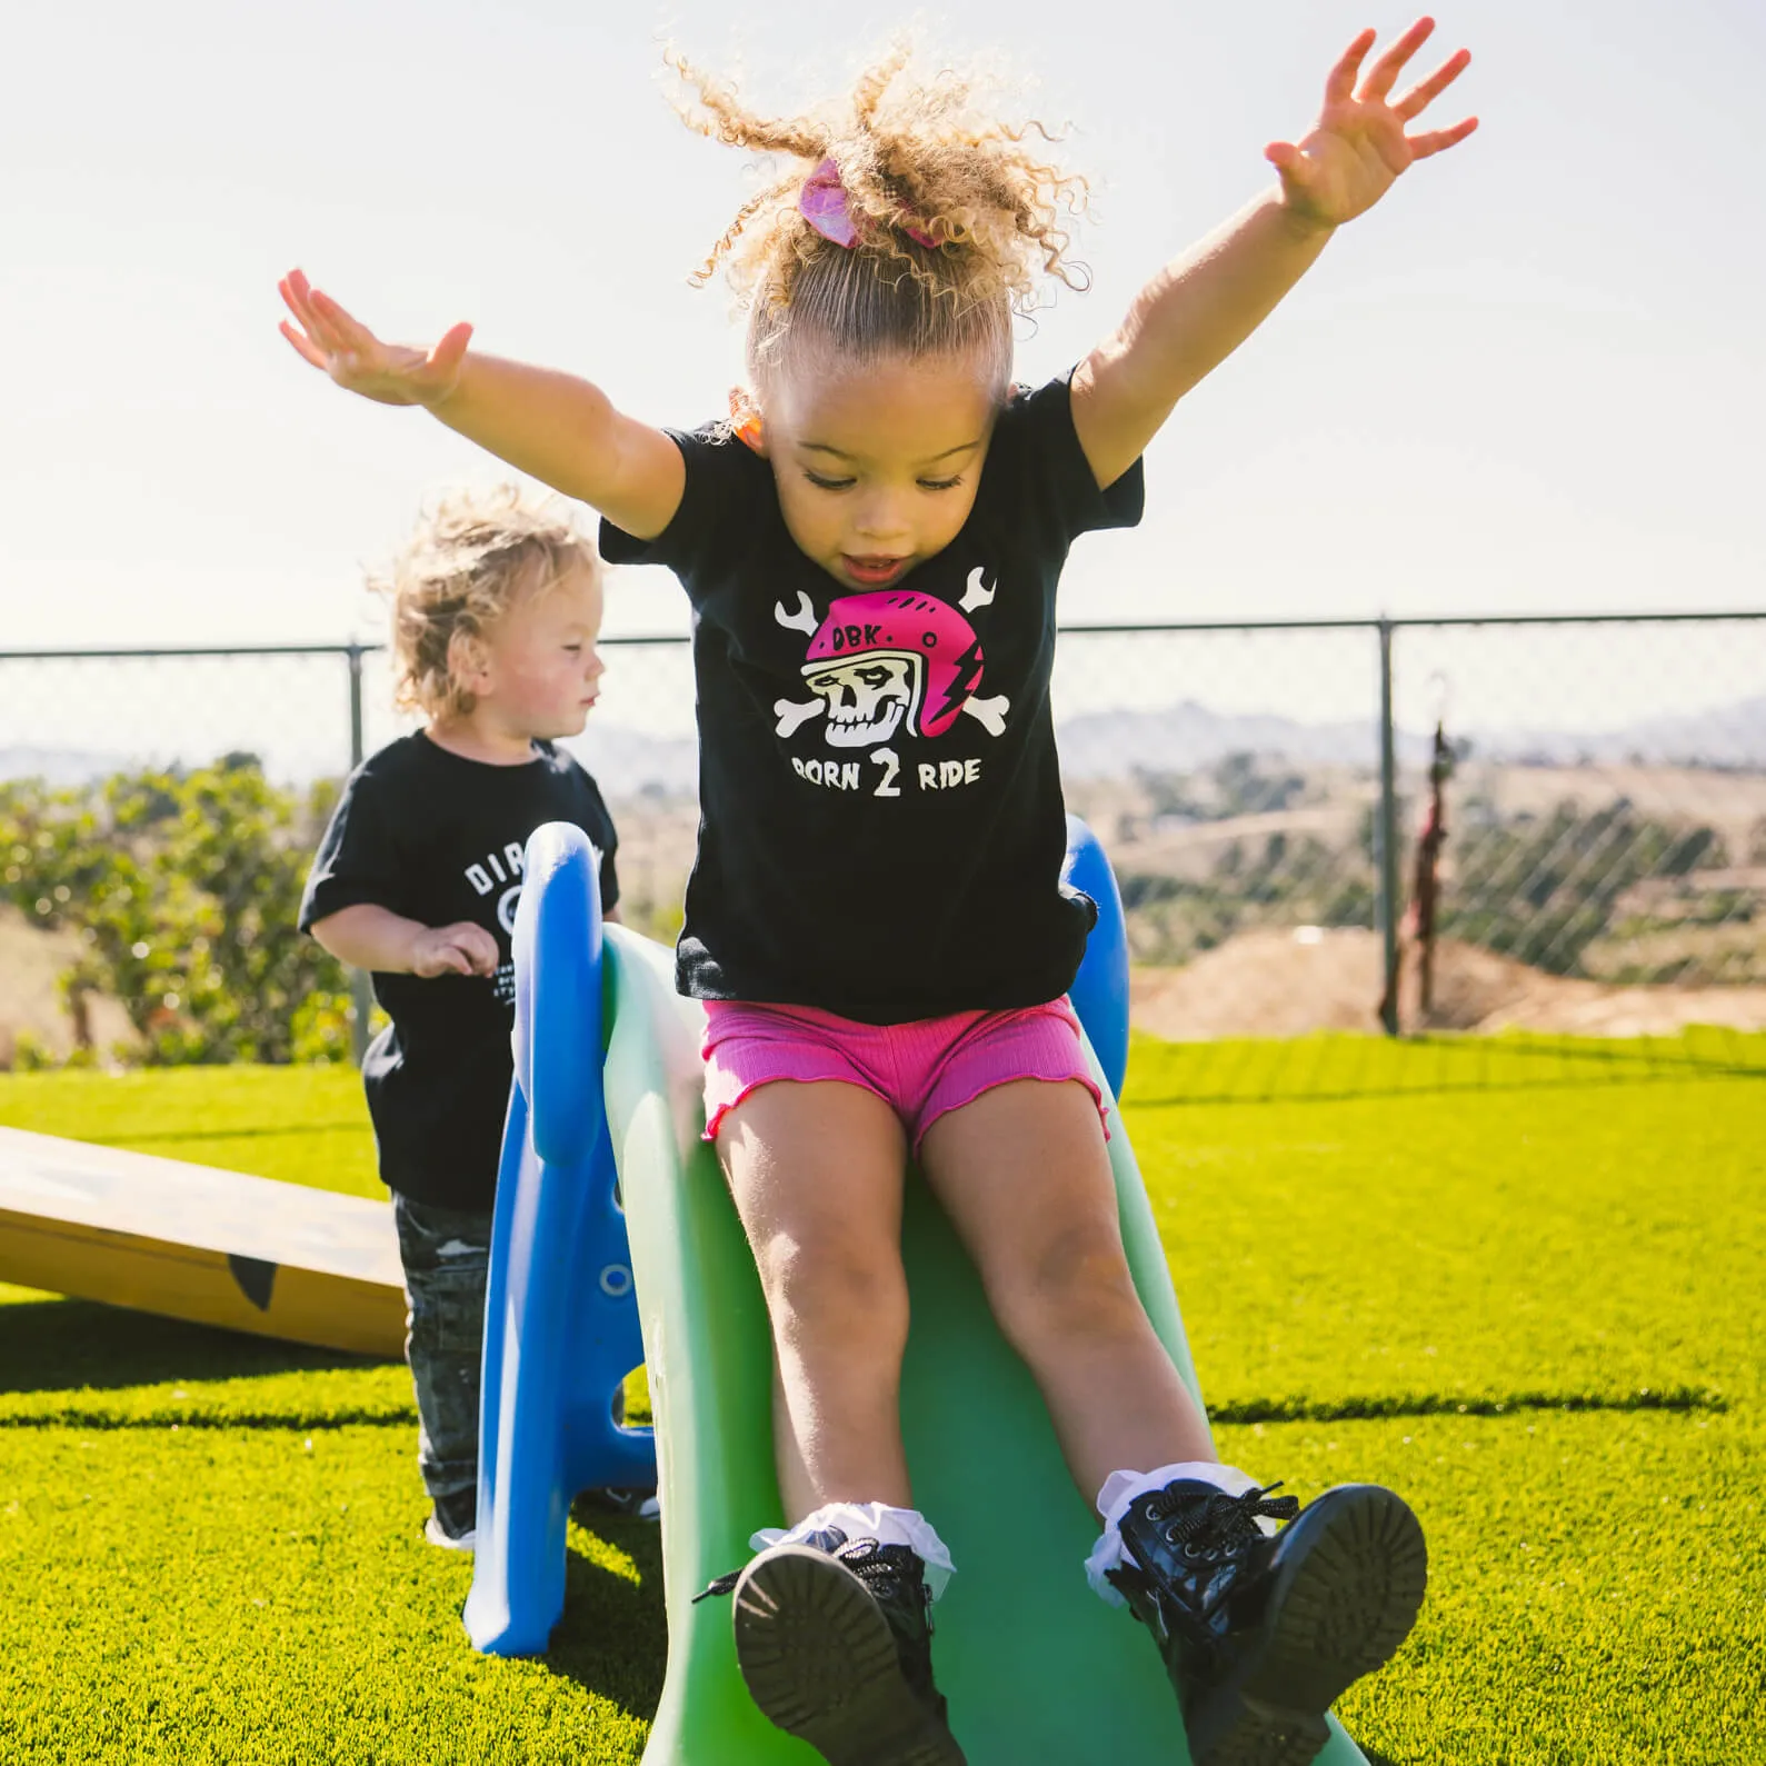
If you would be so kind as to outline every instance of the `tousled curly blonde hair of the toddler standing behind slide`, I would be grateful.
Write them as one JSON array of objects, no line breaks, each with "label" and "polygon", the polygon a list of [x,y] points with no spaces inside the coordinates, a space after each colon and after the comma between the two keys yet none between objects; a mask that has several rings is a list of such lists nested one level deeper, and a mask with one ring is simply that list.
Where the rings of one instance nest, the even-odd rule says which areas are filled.
[{"label": "tousled curly blonde hair of the toddler standing behind slide", "polygon": [[600,579],[600,556],[555,505],[516,486],[449,491],[419,519],[369,588],[392,608],[394,703],[426,717],[464,715],[473,694],[454,678],[457,636],[482,638],[526,595],[565,577]]}]

